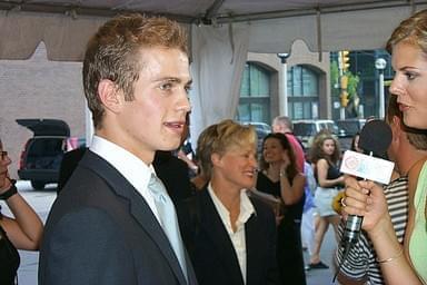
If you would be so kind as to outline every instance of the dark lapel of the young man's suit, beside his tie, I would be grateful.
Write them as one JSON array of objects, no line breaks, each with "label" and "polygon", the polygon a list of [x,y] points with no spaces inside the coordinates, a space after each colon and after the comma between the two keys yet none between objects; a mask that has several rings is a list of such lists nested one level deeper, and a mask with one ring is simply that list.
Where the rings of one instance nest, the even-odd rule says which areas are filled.
[{"label": "dark lapel of the young man's suit, beside his tie", "polygon": [[[129,184],[129,181],[113,166],[91,151],[87,151],[80,164],[83,167],[91,169],[98,176],[105,179],[108,185],[110,185],[111,190],[117,195],[129,200],[130,215],[135,217],[138,224],[151,237],[153,243],[158,245],[159,250],[169,262],[169,265],[177,276],[179,283],[187,284],[178,258],[175,255],[168,237],[166,236],[163,229],[161,228],[147,202],[137,191],[137,189],[135,189],[135,187]],[[189,266],[191,267],[190,263],[188,262],[187,267]],[[190,279],[190,276],[188,278]]]}]

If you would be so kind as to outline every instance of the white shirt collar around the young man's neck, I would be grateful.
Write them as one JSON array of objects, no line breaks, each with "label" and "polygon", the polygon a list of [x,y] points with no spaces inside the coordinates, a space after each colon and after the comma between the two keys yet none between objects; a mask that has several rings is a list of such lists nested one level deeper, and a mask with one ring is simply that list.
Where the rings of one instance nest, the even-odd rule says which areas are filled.
[{"label": "white shirt collar around the young man's neck", "polygon": [[122,176],[125,176],[125,178],[138,190],[138,193],[142,195],[157,220],[161,224],[155,199],[147,187],[151,174],[156,174],[152,165],[147,166],[133,154],[99,136],[93,136],[89,149],[106,159]]}]

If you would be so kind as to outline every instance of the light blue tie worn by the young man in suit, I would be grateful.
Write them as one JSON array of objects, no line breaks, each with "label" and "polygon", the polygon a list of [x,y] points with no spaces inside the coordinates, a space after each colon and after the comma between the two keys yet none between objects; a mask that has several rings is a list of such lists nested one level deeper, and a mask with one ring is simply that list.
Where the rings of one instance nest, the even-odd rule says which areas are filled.
[{"label": "light blue tie worn by the young man in suit", "polygon": [[[151,191],[157,212],[159,213],[160,224],[171,244],[173,252],[178,258],[183,276],[187,279],[187,264],[185,258],[183,244],[181,233],[179,232],[178,218],[175,212],[175,206],[169,195],[166,191],[163,184],[155,174],[151,174],[148,189]],[[188,279],[187,279],[188,281]]]}]

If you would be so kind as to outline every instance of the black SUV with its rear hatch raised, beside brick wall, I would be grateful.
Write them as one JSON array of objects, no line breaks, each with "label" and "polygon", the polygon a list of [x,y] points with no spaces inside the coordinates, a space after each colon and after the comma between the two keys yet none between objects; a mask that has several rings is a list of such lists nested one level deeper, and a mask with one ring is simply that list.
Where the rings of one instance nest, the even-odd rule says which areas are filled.
[{"label": "black SUV with its rear hatch raised, beside brick wall", "polygon": [[34,189],[43,189],[46,184],[58,183],[59,167],[63,153],[70,149],[67,144],[70,128],[57,119],[17,119],[17,122],[33,132],[21,153],[18,176],[30,180]]}]

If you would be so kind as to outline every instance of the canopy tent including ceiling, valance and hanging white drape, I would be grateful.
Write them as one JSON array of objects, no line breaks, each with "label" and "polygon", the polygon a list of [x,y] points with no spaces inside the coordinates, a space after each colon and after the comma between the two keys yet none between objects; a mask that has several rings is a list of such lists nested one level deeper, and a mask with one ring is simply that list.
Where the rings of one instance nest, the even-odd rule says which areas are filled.
[{"label": "canopy tent including ceiling, valance and hanging white drape", "polygon": [[[238,105],[247,52],[289,52],[296,39],[311,51],[384,47],[416,0],[21,0],[0,1],[0,58],[26,59],[40,41],[50,60],[80,61],[88,38],[121,12],[166,14],[191,35],[191,132]],[[321,52],[319,52],[319,57]]]}]

